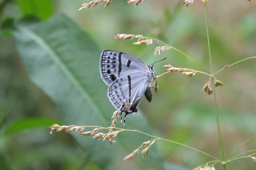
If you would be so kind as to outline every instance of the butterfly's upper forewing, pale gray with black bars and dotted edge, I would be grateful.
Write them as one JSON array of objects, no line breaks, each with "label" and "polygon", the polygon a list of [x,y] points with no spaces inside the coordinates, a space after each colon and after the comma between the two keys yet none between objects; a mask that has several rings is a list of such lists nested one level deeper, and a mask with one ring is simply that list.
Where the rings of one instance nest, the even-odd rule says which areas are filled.
[{"label": "butterfly's upper forewing, pale gray with black bars and dotted edge", "polygon": [[120,51],[103,50],[100,55],[100,75],[107,85],[135,71],[148,71],[140,59]]}]

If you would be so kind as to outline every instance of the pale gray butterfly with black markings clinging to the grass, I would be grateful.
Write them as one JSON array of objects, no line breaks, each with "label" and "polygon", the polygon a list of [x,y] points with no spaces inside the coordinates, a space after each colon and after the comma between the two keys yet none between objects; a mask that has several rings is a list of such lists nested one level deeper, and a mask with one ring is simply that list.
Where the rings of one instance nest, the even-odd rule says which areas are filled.
[{"label": "pale gray butterfly with black markings clinging to the grass", "polygon": [[127,115],[137,112],[143,95],[151,102],[151,87],[156,87],[153,65],[147,66],[130,54],[105,49],[100,55],[100,75],[109,86],[108,98],[120,111],[121,122],[123,113],[125,123]]}]

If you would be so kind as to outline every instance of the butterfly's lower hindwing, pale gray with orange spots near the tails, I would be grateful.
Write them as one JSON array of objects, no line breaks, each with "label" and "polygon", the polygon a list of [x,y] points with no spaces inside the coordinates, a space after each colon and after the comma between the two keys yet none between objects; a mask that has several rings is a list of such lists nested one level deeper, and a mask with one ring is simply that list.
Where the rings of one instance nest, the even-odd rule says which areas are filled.
[{"label": "butterfly's lower hindwing, pale gray with orange spots near the tails", "polygon": [[148,74],[137,71],[114,81],[108,88],[108,98],[118,110],[136,108],[150,85]]}]

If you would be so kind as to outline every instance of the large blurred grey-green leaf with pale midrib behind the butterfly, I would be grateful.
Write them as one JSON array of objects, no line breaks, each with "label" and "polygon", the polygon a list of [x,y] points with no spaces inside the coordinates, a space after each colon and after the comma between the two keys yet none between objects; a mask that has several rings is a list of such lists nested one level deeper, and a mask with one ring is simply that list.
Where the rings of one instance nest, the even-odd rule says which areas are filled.
[{"label": "large blurred grey-green leaf with pale midrib behind the butterfly", "polygon": [[[32,81],[59,109],[66,125],[110,126],[114,107],[108,101],[107,86],[100,78],[99,57],[103,49],[68,17],[58,14],[46,22],[20,22],[14,30],[18,51]],[[117,126],[123,127],[118,121]],[[124,128],[152,134],[139,111],[126,118]],[[154,144],[145,158],[122,161],[148,136],[123,132],[116,144],[73,134],[78,144],[102,168],[164,169],[164,162]],[[165,165],[166,167],[166,165]]]}]

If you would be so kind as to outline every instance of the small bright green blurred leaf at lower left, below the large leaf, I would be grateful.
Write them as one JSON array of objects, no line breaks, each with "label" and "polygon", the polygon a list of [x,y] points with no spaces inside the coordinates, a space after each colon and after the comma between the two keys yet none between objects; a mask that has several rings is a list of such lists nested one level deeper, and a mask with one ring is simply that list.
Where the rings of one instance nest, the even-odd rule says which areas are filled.
[{"label": "small bright green blurred leaf at lower left, below the large leaf", "polygon": [[42,127],[48,128],[54,123],[61,123],[61,122],[57,120],[45,119],[45,118],[20,119],[18,121],[13,122],[11,125],[9,125],[4,130],[4,134],[12,134],[12,133],[20,132],[22,130],[29,130],[33,128],[42,128]]}]

